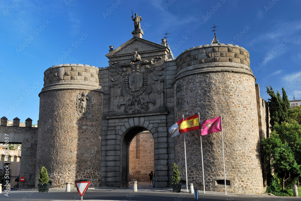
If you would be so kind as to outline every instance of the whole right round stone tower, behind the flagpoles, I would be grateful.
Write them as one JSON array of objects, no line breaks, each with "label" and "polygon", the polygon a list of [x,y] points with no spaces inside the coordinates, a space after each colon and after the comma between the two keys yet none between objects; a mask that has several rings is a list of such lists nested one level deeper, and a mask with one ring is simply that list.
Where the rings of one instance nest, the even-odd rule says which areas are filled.
[{"label": "whole right round stone tower, behind the flagpoles", "polygon": [[[175,121],[200,113],[222,115],[227,192],[262,193],[255,81],[249,53],[231,44],[185,50],[177,59]],[[187,132],[188,182],[203,189],[200,131]],[[202,136],[205,190],[225,191],[222,133]],[[184,136],[175,138],[176,163],[185,178]]]}]

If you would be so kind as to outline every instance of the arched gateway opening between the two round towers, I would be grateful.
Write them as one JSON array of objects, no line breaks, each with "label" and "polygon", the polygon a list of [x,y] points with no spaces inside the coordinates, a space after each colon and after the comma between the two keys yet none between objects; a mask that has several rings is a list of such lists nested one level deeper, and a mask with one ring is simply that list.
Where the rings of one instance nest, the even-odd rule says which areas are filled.
[{"label": "arched gateway opening between the two round towers", "polygon": [[[144,141],[142,146],[140,137]],[[128,185],[131,179],[146,181],[147,172],[154,171],[154,139],[151,132],[143,127],[129,129],[122,139],[121,150],[121,185]],[[140,156],[143,156],[142,160]]]}]

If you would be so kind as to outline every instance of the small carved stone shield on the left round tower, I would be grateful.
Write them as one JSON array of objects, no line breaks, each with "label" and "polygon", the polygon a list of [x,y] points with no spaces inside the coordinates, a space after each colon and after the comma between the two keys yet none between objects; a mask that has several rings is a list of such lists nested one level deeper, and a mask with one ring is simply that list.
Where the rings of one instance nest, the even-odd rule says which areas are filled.
[{"label": "small carved stone shield on the left round tower", "polygon": [[91,94],[80,92],[76,96],[76,110],[80,117],[92,117]]}]

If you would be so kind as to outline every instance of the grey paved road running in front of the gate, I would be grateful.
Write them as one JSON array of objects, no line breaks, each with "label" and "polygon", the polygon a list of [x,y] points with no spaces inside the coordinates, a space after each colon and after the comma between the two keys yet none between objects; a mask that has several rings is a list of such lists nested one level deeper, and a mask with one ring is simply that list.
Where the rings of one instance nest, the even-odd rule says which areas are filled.
[{"label": "grey paved road running in front of the gate", "polygon": [[[84,200],[140,200],[140,201],[193,201],[193,194],[189,193],[171,193],[171,192],[132,192],[132,191],[87,191]],[[79,193],[53,191],[48,193],[39,192],[22,192],[11,191],[9,197],[5,196],[2,192],[0,194],[0,201],[62,201],[62,200],[80,200]],[[300,200],[298,197],[277,197],[277,196],[255,196],[255,195],[212,195],[212,194],[199,194],[198,200],[233,200],[233,201],[290,201]]]}]

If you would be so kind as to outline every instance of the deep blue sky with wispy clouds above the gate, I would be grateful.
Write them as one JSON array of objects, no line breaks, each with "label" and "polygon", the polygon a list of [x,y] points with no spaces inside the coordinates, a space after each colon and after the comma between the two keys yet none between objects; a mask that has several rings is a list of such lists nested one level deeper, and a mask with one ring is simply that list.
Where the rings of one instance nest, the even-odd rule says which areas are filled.
[{"label": "deep blue sky with wispy clouds above the gate", "polygon": [[[175,57],[198,45],[237,44],[265,86],[301,99],[301,1],[0,1],[0,116],[37,123],[44,71],[58,63],[108,66],[109,46],[132,38],[132,11],[142,17],[143,38],[156,43],[166,31]],[[184,42],[183,42],[184,41]]]}]

